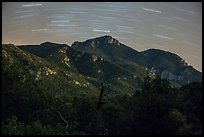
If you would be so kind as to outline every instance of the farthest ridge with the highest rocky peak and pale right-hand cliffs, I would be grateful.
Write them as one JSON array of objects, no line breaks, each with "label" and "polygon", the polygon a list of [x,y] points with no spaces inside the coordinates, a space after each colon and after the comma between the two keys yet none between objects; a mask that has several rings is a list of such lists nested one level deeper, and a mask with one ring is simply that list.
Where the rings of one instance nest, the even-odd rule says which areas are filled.
[{"label": "farthest ridge with the highest rocky peak and pale right-hand cliffs", "polygon": [[[121,64],[131,62],[147,68],[153,74],[177,84],[201,81],[201,72],[188,66],[178,55],[159,49],[148,49],[138,52],[112,38],[103,36],[84,42],[74,42],[72,46],[83,52],[95,53]],[[128,66],[129,67],[129,66]],[[128,68],[124,65],[124,68]]]}]

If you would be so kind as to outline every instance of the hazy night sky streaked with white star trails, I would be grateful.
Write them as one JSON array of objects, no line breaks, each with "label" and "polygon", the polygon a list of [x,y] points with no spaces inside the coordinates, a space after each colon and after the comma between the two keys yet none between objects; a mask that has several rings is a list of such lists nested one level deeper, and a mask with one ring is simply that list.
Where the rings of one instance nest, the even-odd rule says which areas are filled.
[{"label": "hazy night sky streaked with white star trails", "polygon": [[137,51],[174,52],[202,71],[202,3],[2,3],[3,43],[71,45],[103,35]]}]

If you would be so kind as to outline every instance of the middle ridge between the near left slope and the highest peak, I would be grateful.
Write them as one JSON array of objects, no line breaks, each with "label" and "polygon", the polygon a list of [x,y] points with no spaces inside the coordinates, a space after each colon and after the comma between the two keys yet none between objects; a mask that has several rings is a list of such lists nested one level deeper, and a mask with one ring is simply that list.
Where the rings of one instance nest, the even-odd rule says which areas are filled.
[{"label": "middle ridge between the near left slope and the highest peak", "polygon": [[[135,88],[133,84],[139,85],[137,81],[140,81],[140,78],[134,80],[131,76],[131,72],[128,72],[128,70],[122,68],[117,63],[111,62],[97,54],[81,52],[66,45],[44,46],[40,44],[35,46],[20,46],[19,48],[44,58],[63,69],[68,69],[80,75],[97,79],[98,84],[96,85],[100,85],[100,81],[105,81],[107,84],[112,83],[112,87],[117,89],[117,87],[122,84],[120,81],[126,81],[126,79],[128,79],[127,81],[132,84],[127,83],[123,87],[125,89],[131,87],[128,91],[132,93],[138,88],[138,86]],[[124,79],[121,79],[123,76],[125,76]],[[123,92],[123,88],[117,90]]]}]

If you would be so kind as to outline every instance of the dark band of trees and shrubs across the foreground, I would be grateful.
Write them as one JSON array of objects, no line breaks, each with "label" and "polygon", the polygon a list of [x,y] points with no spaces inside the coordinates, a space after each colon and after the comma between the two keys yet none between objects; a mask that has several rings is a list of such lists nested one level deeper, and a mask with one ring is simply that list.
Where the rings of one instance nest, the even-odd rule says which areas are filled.
[{"label": "dark band of trees and shrubs across the foreground", "polygon": [[202,83],[174,88],[147,74],[133,96],[107,95],[97,109],[98,96],[54,93],[18,64],[2,73],[6,135],[202,134]]}]

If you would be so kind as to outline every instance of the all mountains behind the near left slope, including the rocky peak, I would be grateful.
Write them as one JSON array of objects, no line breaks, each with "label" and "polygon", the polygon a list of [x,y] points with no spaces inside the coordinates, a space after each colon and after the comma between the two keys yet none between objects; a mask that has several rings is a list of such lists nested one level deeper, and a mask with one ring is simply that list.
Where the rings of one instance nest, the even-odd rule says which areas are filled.
[{"label": "all mountains behind the near left slope, including the rocky peak", "polygon": [[97,37],[84,42],[76,41],[71,47],[45,42],[17,48],[62,69],[92,79],[95,84],[96,81],[106,81],[117,89],[122,85],[129,91],[140,88],[146,70],[152,75],[171,81],[174,85],[202,81],[202,73],[188,66],[174,53],[159,49],[138,52],[111,36]]}]

